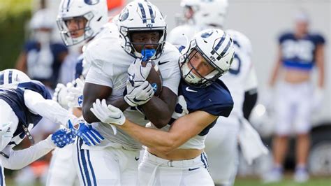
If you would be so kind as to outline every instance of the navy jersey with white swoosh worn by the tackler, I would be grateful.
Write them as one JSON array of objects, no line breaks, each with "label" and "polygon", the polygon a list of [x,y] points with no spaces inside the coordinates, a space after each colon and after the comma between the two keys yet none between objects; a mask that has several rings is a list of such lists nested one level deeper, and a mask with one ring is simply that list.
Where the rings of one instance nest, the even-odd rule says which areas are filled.
[{"label": "navy jersey with white swoosh worn by the tackler", "polygon": [[[175,113],[172,114],[169,124],[172,124],[177,118],[197,110],[228,117],[232,109],[232,96],[228,87],[221,80],[217,79],[212,85],[203,88],[191,87],[184,80],[181,80]],[[216,120],[203,129],[199,135],[208,134],[209,129],[214,127],[215,123]]]}]

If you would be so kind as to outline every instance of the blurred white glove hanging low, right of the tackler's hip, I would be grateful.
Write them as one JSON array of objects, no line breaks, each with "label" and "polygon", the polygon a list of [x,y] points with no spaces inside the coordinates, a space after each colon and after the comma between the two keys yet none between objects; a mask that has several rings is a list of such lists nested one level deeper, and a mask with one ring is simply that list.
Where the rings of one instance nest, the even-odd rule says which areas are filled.
[{"label": "blurred white glove hanging low, right of the tackler's hip", "polygon": [[269,151],[263,145],[258,132],[251,127],[251,124],[244,118],[241,119],[241,122],[239,131],[240,148],[242,148],[242,154],[250,165],[254,159],[261,155],[267,155]]}]

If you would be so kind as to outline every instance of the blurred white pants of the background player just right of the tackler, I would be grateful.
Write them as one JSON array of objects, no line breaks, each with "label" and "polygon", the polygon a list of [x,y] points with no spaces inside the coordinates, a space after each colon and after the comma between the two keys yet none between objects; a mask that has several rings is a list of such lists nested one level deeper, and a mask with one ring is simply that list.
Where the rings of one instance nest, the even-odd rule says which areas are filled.
[{"label": "blurred white pants of the background player just right of the tackler", "polygon": [[239,128],[237,118],[219,117],[207,134],[205,152],[209,160],[209,173],[215,184],[233,185],[235,182],[239,164]]}]

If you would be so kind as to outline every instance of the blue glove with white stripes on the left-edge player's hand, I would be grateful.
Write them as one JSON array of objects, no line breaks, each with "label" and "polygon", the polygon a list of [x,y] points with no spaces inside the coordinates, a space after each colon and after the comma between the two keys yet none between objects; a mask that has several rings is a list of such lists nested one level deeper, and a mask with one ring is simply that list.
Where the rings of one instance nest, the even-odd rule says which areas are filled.
[{"label": "blue glove with white stripes on the left-edge player's hand", "polygon": [[101,136],[90,124],[87,124],[83,121],[79,121],[78,124],[75,124],[75,127],[71,120],[68,120],[69,129],[73,131],[73,133],[82,138],[82,140],[89,146],[100,144],[105,138]]}]

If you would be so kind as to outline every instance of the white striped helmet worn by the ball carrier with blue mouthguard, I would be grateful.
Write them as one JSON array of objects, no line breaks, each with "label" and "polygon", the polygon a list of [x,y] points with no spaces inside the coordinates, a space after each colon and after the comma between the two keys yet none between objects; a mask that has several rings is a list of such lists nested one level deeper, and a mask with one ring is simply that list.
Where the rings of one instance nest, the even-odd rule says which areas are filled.
[{"label": "white striped helmet worn by the ball carrier with blue mouthguard", "polygon": [[[128,3],[122,10],[117,21],[121,46],[131,56],[141,58],[140,52],[136,51],[131,41],[131,31],[160,31],[160,40],[154,56],[149,59],[156,59],[161,56],[165,44],[167,24],[159,8],[149,1],[133,1]],[[139,43],[144,45],[143,43]]]}]

